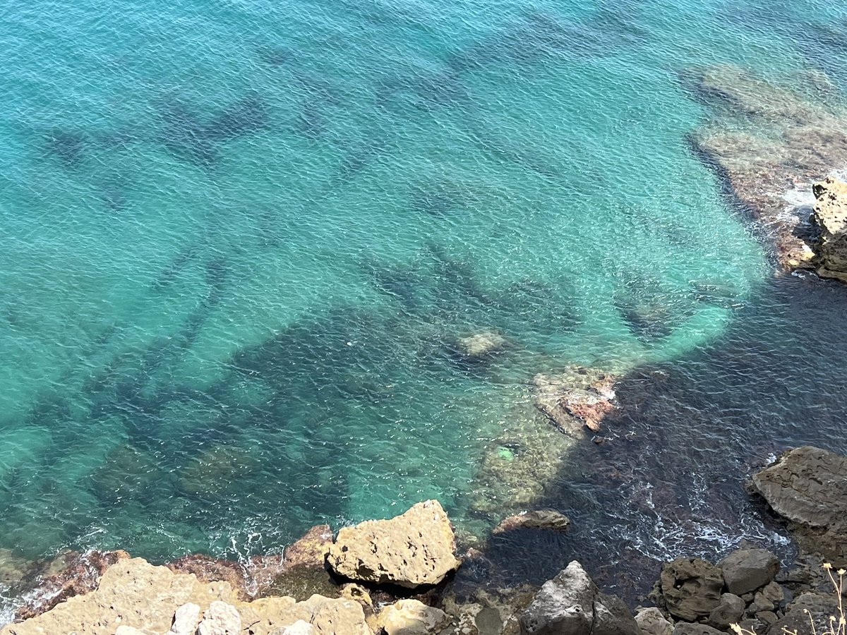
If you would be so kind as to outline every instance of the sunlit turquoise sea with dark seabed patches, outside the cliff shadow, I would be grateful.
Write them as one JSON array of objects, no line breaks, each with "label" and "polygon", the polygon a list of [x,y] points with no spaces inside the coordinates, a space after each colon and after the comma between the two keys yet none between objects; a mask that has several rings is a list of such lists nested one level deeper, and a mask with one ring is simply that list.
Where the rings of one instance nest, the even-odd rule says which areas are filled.
[{"label": "sunlit turquoise sea with dark seabed patches, outside the cliff shadow", "polygon": [[[466,516],[534,373],[690,353],[770,275],[678,73],[840,81],[802,25],[845,19],[3,3],[0,548],[236,555],[426,497]],[[503,355],[457,356],[492,329]]]}]

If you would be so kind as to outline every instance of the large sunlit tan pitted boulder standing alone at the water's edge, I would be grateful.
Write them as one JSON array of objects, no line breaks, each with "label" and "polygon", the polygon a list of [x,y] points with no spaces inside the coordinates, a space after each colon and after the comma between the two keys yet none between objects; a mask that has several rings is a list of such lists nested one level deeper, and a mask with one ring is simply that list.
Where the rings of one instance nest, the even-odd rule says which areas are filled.
[{"label": "large sunlit tan pitted boulder standing alone at the water's edge", "polygon": [[416,588],[440,583],[460,562],[456,538],[437,500],[412,506],[401,516],[344,527],[329,547],[327,562],[340,576]]}]

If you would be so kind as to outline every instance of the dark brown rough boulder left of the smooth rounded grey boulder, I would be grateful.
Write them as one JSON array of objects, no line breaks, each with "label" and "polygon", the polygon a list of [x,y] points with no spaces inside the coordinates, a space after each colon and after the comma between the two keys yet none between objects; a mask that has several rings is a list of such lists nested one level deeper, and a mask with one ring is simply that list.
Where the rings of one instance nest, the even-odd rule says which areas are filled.
[{"label": "dark brown rough boulder left of the smooth rounded grey boulder", "polygon": [[678,558],[662,567],[662,595],[671,615],[694,621],[721,603],[723,575],[699,558]]}]

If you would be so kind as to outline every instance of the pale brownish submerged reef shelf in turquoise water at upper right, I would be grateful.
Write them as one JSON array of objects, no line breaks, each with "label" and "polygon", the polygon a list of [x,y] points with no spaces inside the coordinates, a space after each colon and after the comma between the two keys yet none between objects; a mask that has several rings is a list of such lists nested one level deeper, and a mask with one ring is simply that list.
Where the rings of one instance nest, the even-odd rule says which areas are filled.
[{"label": "pale brownish submerged reef shelf in turquoise water at upper right", "polygon": [[713,115],[691,135],[695,152],[773,241],[783,268],[815,267],[811,184],[847,166],[838,89],[820,72],[783,86],[732,64],[688,69],[682,80]]}]

